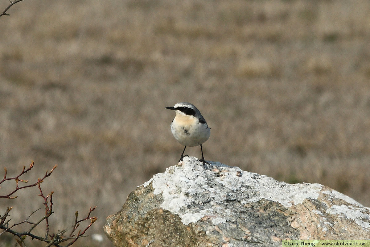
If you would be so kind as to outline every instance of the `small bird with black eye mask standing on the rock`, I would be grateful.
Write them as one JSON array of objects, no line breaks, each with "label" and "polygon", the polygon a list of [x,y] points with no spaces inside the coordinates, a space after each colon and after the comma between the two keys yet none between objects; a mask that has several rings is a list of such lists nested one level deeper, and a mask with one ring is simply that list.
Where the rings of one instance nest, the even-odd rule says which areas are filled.
[{"label": "small bird with black eye mask standing on the rock", "polygon": [[182,161],[182,158],[186,156],[184,156],[184,152],[187,146],[200,145],[202,158],[199,161],[205,163],[202,144],[208,140],[211,131],[201,112],[188,102],[180,102],[173,107],[166,107],[166,109],[175,111],[176,116],[171,123],[171,132],[175,139],[185,146],[179,161]]}]

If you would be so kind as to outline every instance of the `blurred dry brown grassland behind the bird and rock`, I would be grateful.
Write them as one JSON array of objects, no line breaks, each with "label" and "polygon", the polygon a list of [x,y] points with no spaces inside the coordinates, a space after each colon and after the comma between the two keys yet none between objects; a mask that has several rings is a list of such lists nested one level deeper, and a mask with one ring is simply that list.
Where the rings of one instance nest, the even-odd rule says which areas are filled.
[{"label": "blurred dry brown grassland behind the bird and rock", "polygon": [[[8,13],[0,166],[16,175],[33,160],[36,180],[59,165],[42,184],[54,230],[98,206],[88,233],[103,234],[132,190],[177,163],[164,107],[179,101],[212,128],[206,160],[370,206],[369,1],[24,0]],[[24,219],[38,194],[0,200],[0,212]]]}]

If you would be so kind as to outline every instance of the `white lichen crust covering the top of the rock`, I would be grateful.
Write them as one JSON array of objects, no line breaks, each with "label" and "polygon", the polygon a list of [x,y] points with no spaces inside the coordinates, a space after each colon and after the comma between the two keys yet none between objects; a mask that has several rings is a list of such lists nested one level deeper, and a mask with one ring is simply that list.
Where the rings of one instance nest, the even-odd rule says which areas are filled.
[{"label": "white lichen crust covering the top of the rock", "polygon": [[[211,162],[208,169],[195,157],[185,157],[178,166],[169,167],[165,173],[156,174],[144,186],[152,183],[154,194],[161,194],[161,207],[178,215],[182,223],[195,223],[204,216],[214,217],[212,223],[225,223],[228,211],[222,206],[225,200],[240,200],[241,204],[267,199],[278,202],[284,207],[302,203],[305,199],[317,199],[320,193],[330,194],[355,206],[360,205],[350,197],[333,191],[321,191],[321,184],[287,184],[271,177]],[[194,203],[211,202],[208,208],[190,207]],[[316,210],[320,215],[323,212]],[[342,214],[356,221],[361,227],[369,227],[364,222],[365,213],[356,215],[355,209],[330,207],[326,213]]]}]

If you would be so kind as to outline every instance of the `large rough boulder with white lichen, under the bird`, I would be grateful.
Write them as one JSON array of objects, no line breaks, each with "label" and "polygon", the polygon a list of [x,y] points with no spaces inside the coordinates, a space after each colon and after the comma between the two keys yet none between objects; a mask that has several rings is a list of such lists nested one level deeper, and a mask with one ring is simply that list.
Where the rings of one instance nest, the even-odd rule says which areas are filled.
[{"label": "large rough boulder with white lichen, under the bird", "polygon": [[281,246],[370,239],[370,208],[321,184],[287,184],[195,157],[139,186],[104,231],[117,247]]}]

